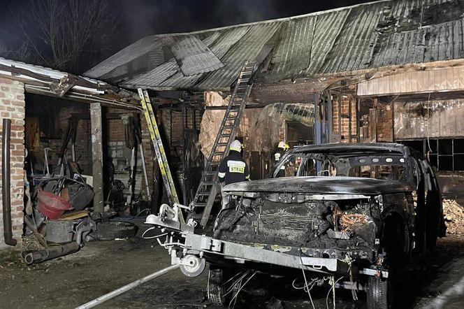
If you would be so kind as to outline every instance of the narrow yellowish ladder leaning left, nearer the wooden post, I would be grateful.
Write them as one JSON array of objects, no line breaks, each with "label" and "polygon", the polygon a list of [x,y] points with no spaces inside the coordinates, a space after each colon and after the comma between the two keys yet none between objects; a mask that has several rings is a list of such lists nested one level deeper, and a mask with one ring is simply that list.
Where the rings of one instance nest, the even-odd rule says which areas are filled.
[{"label": "narrow yellowish ladder leaning left, nearer the wooden post", "polygon": [[[150,132],[150,138],[152,139],[154,152],[157,155],[159,171],[161,171],[161,178],[163,178],[164,187],[166,187],[166,193],[168,194],[169,203],[173,206],[175,203],[179,204],[179,198],[177,197],[177,191],[173,182],[173,176],[171,175],[171,168],[169,168],[168,159],[166,158],[166,152],[164,151],[164,145],[161,141],[159,134],[157,119],[154,117],[152,102],[150,96],[148,96],[147,90],[138,88],[138,96],[140,96],[140,103],[143,107],[143,113],[148,124],[148,131]],[[184,217],[182,211],[179,210],[179,220],[184,223]]]}]

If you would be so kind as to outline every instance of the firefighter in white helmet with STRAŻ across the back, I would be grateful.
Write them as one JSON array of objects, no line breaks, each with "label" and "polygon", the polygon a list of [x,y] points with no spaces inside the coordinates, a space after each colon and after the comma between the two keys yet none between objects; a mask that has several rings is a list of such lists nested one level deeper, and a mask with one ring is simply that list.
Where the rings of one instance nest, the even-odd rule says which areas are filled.
[{"label": "firefighter in white helmet with STRA\u017b across the back", "polygon": [[242,143],[237,140],[233,141],[229,150],[229,155],[222,159],[221,164],[219,164],[217,173],[221,182],[222,209],[226,208],[230,201],[230,196],[224,194],[224,185],[249,180],[248,166],[240,155]]}]

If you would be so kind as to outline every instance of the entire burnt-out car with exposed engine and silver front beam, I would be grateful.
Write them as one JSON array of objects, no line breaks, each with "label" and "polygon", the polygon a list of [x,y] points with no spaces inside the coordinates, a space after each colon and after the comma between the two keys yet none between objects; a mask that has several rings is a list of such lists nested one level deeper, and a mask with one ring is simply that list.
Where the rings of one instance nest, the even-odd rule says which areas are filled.
[{"label": "entire burnt-out car with exposed engine and silver front beam", "polygon": [[[290,176],[276,178],[282,166]],[[194,233],[193,222],[172,224],[166,212],[147,220],[177,229],[163,245],[186,275],[211,264],[215,303],[227,304],[224,282],[233,282],[229,274],[240,268],[293,269],[319,274],[312,285],[333,276],[333,287],[365,289],[370,308],[386,308],[392,274],[444,234],[433,169],[399,144],[297,148],[269,178],[227,185],[224,192],[231,203],[217,215],[211,236]]]}]

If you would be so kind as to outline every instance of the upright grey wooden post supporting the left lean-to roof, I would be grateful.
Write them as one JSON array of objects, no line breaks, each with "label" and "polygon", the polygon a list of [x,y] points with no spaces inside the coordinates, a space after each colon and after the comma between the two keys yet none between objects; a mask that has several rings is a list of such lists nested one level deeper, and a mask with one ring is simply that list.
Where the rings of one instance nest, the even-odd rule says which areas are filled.
[{"label": "upright grey wooden post supporting the left lean-to roof", "polygon": [[94,177],[94,211],[103,214],[103,146],[101,133],[101,104],[90,104],[92,129],[92,175]]}]

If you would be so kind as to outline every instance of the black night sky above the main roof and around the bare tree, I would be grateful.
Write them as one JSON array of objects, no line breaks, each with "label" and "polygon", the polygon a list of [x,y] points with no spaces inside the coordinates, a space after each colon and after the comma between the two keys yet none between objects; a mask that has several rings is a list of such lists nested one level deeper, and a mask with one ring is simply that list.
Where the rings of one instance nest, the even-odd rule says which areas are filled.
[{"label": "black night sky above the main roof and around the bare tree", "polygon": [[[85,0],[83,0],[85,1]],[[27,0],[0,0],[0,44],[15,48],[15,12]],[[186,32],[351,6],[366,0],[110,0],[119,29],[103,58],[150,34]],[[103,59],[102,59],[103,60]]]}]

